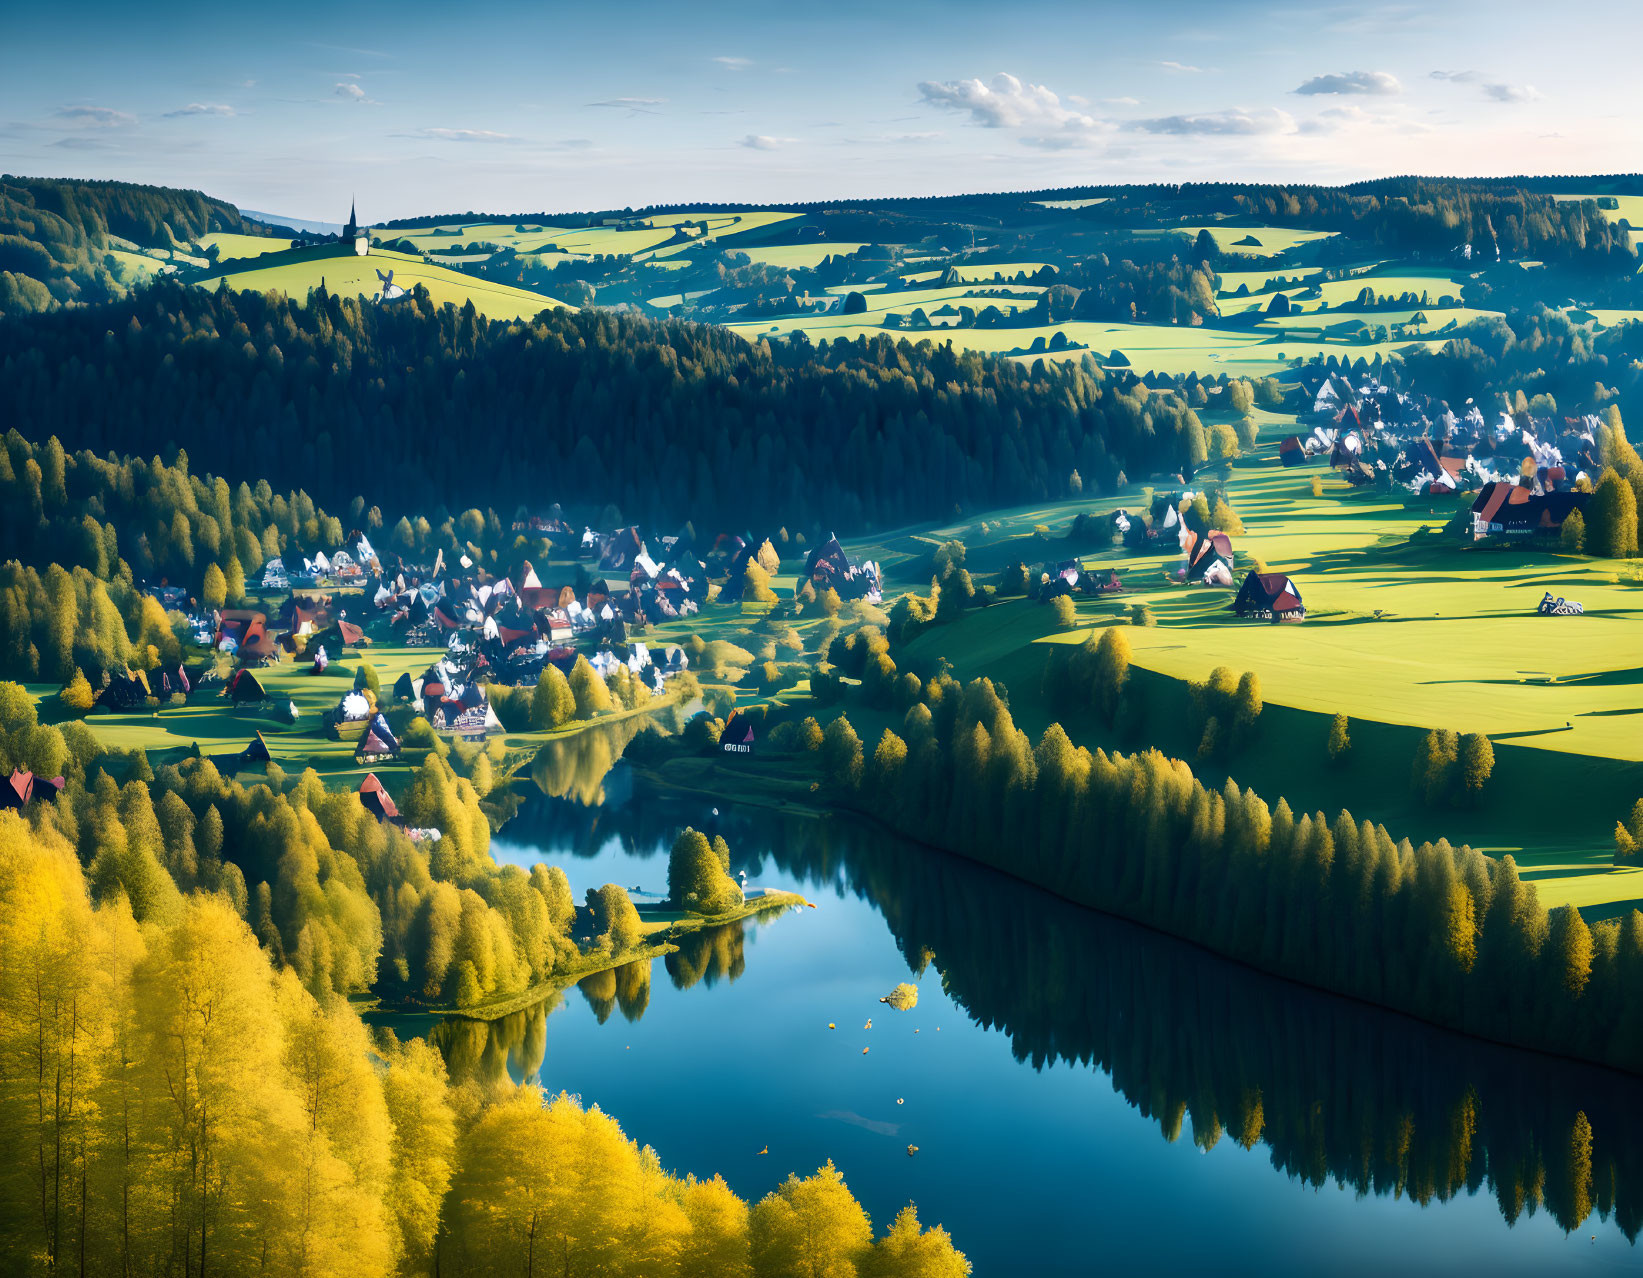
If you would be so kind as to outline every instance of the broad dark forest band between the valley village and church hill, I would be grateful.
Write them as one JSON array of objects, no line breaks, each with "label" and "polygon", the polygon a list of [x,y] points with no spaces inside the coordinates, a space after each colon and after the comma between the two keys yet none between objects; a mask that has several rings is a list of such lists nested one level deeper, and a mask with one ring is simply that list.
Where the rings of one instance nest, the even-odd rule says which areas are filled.
[{"label": "broad dark forest band between the valley village and church hill", "polygon": [[1029,368],[889,337],[771,347],[608,312],[488,325],[407,302],[158,281],[0,325],[0,399],[33,440],[186,447],[202,470],[332,506],[610,501],[726,527],[935,517],[1190,470],[1208,450],[1183,399],[1122,389],[1089,360]]}]

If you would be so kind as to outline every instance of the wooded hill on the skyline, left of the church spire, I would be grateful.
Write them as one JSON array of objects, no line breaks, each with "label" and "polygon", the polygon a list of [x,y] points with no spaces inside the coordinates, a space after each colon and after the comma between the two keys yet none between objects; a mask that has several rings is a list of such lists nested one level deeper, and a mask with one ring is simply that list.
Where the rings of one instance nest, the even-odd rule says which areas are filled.
[{"label": "wooded hill on the skyline, left of the church spire", "polygon": [[207,232],[265,235],[232,204],[199,191],[0,176],[0,315],[104,302],[127,291],[115,240],[187,245]]}]

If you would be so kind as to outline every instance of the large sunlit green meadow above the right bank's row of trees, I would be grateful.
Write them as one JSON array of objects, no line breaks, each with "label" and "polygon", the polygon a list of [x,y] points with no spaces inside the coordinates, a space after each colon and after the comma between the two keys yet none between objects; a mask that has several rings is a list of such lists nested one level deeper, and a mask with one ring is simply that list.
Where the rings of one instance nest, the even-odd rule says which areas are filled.
[{"label": "large sunlit green meadow above the right bank's row of trees", "polygon": [[[1268,439],[1295,429],[1293,417],[1259,417]],[[1323,498],[1311,494],[1314,475],[1326,476]],[[1643,903],[1643,871],[1610,864],[1613,823],[1643,793],[1643,572],[1635,563],[1475,549],[1439,532],[1464,499],[1357,493],[1321,462],[1278,467],[1270,442],[1232,468],[1229,494],[1245,526],[1234,536],[1234,577],[1242,580],[1250,557],[1291,573],[1306,623],[1237,621],[1231,591],[1170,582],[1178,554],[1112,547],[1078,557],[1101,575],[1116,570],[1125,593],[1079,600],[1073,631],[1060,631],[1045,606],[1006,601],[925,631],[900,660],[945,659],[960,678],[1002,680],[1017,724],[1035,736],[1061,721],[1079,744],[1155,744],[1186,759],[1196,754],[1186,682],[1217,665],[1254,670],[1267,705],[1259,741],[1226,764],[1196,764],[1208,782],[1231,774],[1272,802],[1286,797],[1296,811],[1349,808],[1416,841],[1510,853],[1546,905],[1607,917]],[[887,532],[851,550],[884,565],[887,595],[923,593],[928,555],[950,537],[966,544],[966,567],[986,582],[1012,560],[1073,557],[1063,537],[1075,514],[1145,501],[1147,490],[1130,485],[1093,501]],[[1536,616],[1548,590],[1579,600],[1587,614]],[[1148,711],[1140,739],[1121,739],[1047,698],[1045,670],[1060,646],[1119,623],[1134,603],[1157,618],[1152,628],[1125,628]],[[1328,767],[1323,749],[1336,713],[1349,716],[1354,742],[1342,769]],[[876,734],[894,723],[863,726]],[[1495,779],[1475,808],[1428,810],[1411,798],[1410,762],[1428,728],[1490,736]]]}]

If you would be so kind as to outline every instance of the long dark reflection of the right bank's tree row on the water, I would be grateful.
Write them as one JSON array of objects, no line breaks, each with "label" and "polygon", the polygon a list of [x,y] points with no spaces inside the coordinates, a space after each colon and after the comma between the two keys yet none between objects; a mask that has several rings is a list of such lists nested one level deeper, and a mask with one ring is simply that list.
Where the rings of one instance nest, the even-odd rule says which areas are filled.
[{"label": "long dark reflection of the right bank's tree row on the water", "polygon": [[[703,823],[651,797],[605,816],[600,838],[641,853]],[[716,830],[754,874],[769,857],[872,902],[909,966],[933,963],[1017,1060],[1111,1074],[1170,1140],[1260,1142],[1308,1184],[1421,1204],[1487,1191],[1508,1222],[1544,1209],[1569,1230],[1595,1211],[1628,1239],[1643,1227],[1636,1079],[1291,986],[849,823],[726,811]],[[721,945],[703,933],[669,956],[674,982],[739,974],[739,936]]]}]

